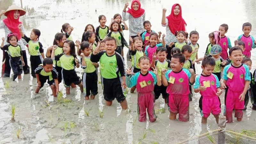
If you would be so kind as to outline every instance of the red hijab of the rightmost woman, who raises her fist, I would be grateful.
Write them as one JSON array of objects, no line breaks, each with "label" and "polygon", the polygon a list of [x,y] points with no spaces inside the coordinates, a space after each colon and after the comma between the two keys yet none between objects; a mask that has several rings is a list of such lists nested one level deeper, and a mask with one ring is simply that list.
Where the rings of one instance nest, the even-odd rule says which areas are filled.
[{"label": "red hijab of the rightmost woman, who raises her fist", "polygon": [[166,17],[168,19],[168,26],[172,32],[172,34],[175,34],[175,31],[185,31],[185,25],[187,25],[187,23],[185,22],[185,20],[183,20],[182,18],[182,11],[181,11],[181,6],[180,6],[180,13],[178,15],[174,15],[174,8],[175,6],[177,6],[180,4],[173,4],[172,5],[172,11],[171,14]]}]

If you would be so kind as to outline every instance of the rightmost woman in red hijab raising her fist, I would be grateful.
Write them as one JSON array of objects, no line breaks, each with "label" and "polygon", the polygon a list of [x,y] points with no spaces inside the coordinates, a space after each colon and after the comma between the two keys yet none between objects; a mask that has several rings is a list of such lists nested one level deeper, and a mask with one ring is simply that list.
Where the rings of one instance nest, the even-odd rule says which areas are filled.
[{"label": "rightmost woman in red hijab raising her fist", "polygon": [[[171,14],[165,17],[166,9],[163,8],[162,26],[166,27],[166,36],[164,37],[167,48],[167,59],[171,58],[171,49],[168,48],[171,42],[177,42],[175,31],[186,31],[187,23],[182,18],[182,11],[180,4],[173,4]],[[188,40],[185,39],[187,42]]]}]

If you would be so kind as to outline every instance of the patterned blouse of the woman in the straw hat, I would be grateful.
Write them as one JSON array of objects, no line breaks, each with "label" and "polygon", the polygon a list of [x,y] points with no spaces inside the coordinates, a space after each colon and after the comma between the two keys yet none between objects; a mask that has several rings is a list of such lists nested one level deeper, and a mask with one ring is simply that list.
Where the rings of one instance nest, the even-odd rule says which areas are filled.
[{"label": "patterned blouse of the woman in the straw hat", "polygon": [[[12,33],[11,30],[4,24],[3,20],[0,21],[0,28],[4,28],[4,31],[5,31],[5,37],[4,37],[4,38],[5,38],[5,41],[4,41],[4,45],[9,44],[9,43],[6,42],[6,40],[7,40],[7,35],[10,34],[10,33]],[[21,30],[22,30],[22,32],[25,34],[25,29],[24,29],[23,25],[22,25]],[[25,41],[23,38],[21,38],[21,39],[18,41],[17,44],[20,45],[20,48],[21,48],[22,51],[25,51],[25,50],[26,50],[25,44],[27,44],[27,43],[26,43],[26,41]]]}]

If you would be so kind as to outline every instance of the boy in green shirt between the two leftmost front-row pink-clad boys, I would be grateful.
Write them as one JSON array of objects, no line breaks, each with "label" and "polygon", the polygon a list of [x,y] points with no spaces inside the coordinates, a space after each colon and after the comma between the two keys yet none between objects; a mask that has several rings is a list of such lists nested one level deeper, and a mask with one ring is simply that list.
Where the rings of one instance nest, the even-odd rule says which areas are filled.
[{"label": "boy in green shirt between the two leftmost front-row pink-clad boys", "polygon": [[[167,49],[163,46],[159,46],[156,49],[156,56],[157,60],[152,61],[151,67],[157,69],[157,75],[159,76],[161,80],[161,71],[163,69],[167,70],[167,68],[171,68],[171,61],[166,60],[167,56]],[[162,81],[161,81],[162,82]],[[155,85],[154,92],[155,92],[155,99],[157,100],[159,96],[162,94],[162,97],[164,99],[164,102],[167,103],[167,98],[169,94],[166,92],[167,86],[164,86],[163,84],[161,86]]]}]

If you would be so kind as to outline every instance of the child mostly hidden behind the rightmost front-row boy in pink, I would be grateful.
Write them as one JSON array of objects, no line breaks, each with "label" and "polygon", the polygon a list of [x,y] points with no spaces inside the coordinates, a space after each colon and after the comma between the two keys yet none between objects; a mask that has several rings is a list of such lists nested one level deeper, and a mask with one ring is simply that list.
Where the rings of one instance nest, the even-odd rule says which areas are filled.
[{"label": "child mostly hidden behind the rightmost front-row boy in pink", "polygon": [[[252,69],[252,60],[248,57],[244,57],[242,60],[242,63],[247,65],[249,70]],[[250,87],[248,89],[248,91],[245,94],[244,97],[244,110],[247,109],[247,105],[249,103],[249,99],[251,99],[252,104],[254,103],[254,98],[253,98],[253,93],[252,93],[252,73],[250,72],[250,77],[251,77],[251,82],[250,82]]]}]

